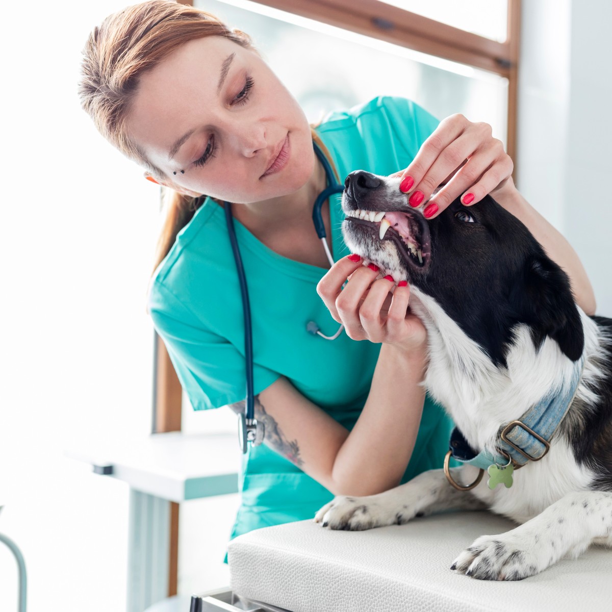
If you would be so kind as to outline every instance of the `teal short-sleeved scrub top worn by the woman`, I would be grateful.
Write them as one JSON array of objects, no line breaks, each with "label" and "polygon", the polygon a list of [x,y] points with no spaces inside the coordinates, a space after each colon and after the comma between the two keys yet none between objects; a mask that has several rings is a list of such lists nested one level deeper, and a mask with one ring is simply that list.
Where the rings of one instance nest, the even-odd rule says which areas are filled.
[{"label": "teal short-sleeved scrub top worn by the woman", "polygon": [[[315,131],[343,181],[354,170],[383,176],[404,170],[437,125],[437,119],[410,100],[382,96],[329,113]],[[330,217],[337,261],[349,255],[340,229],[341,194],[330,197]],[[335,340],[308,333],[309,321],[328,336],[338,330],[316,293],[327,269],[278,255],[238,220],[234,225],[251,306],[255,394],[286,376],[308,400],[351,430],[365,405],[381,345],[351,340],[344,332]],[[223,209],[210,198],[155,271],[148,306],[195,410],[245,399],[239,281]],[[442,467],[452,427],[441,406],[426,397],[402,482]],[[244,456],[239,490],[242,501],[231,538],[312,518],[333,498],[265,444],[250,447]]]}]

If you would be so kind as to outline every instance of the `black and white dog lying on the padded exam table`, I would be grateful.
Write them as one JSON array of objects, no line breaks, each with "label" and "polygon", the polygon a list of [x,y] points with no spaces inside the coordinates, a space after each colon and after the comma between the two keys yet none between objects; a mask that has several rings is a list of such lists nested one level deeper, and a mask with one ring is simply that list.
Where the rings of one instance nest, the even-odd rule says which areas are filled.
[{"label": "black and white dog lying on the padded exam table", "polygon": [[[567,275],[490,196],[427,221],[399,182],[349,174],[343,234],[353,253],[409,281],[428,332],[424,384],[457,425],[450,452],[466,463],[338,496],[315,521],[361,530],[491,509],[521,524],[479,537],[451,566],[484,580],[521,580],[591,543],[612,545],[612,319],[577,307]],[[528,435],[534,411],[540,433]],[[467,463],[477,453],[479,467]],[[483,470],[490,478],[466,493]]]}]

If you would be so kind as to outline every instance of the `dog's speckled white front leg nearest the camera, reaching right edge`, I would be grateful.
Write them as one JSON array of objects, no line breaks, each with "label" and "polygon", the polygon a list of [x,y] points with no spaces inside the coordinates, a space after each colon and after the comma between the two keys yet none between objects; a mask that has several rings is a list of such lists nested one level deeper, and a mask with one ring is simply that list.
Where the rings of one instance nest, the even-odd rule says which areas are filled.
[{"label": "dog's speckled white front leg nearest the camera, reaching right edge", "polygon": [[612,545],[612,493],[569,493],[512,531],[482,535],[450,569],[480,580],[522,580],[591,543]]}]

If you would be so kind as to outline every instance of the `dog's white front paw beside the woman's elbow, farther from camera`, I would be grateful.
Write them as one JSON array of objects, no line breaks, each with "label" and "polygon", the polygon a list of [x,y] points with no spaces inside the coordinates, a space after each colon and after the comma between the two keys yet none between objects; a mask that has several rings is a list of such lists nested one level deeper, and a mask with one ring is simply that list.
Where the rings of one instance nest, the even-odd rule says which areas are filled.
[{"label": "dog's white front paw beside the woman's elbow, farther from camera", "polygon": [[369,497],[347,497],[340,495],[332,499],[315,515],[315,523],[330,529],[365,531],[384,525],[405,523],[403,515],[386,508],[384,504]]}]

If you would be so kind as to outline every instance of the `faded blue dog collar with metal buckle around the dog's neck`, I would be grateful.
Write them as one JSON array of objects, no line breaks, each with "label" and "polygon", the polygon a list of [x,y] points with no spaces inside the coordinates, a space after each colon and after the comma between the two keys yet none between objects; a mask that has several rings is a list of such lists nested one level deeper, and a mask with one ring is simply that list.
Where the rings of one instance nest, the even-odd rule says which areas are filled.
[{"label": "faded blue dog collar with metal buckle around the dog's neck", "polygon": [[449,448],[452,457],[461,463],[484,470],[491,465],[509,465],[510,461],[515,468],[520,468],[528,461],[540,460],[548,452],[550,439],[572,405],[583,369],[584,357],[581,357],[575,362],[572,379],[568,384],[560,390],[551,389],[537,404],[529,408],[520,420],[499,428],[496,445],[499,454],[487,450],[477,453],[455,427],[450,435]]}]

